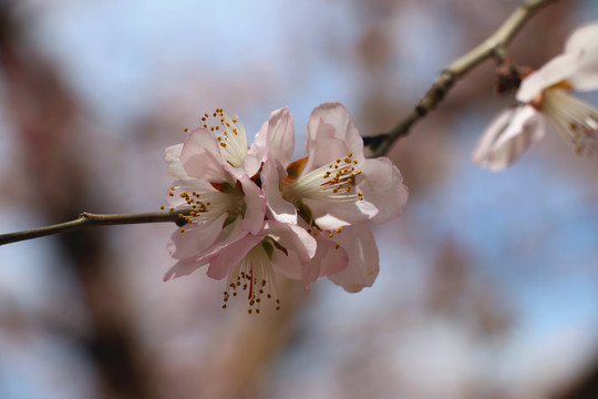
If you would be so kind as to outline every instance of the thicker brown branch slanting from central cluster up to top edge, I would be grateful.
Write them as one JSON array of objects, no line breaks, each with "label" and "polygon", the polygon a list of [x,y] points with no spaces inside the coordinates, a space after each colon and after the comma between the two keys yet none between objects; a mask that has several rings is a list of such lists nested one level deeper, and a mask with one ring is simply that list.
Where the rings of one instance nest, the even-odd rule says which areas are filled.
[{"label": "thicker brown branch slanting from central cluster up to top edge", "polygon": [[491,58],[501,63],[505,59],[506,47],[513,38],[537,11],[551,1],[556,0],[524,1],[494,34],[465,55],[453,61],[434,81],[427,93],[417,103],[417,106],[394,129],[375,136],[363,137],[364,144],[373,151],[372,156],[378,157],[388,154],[392,144],[400,137],[406,136],[411,126],[424,117],[429,111],[435,109],[455,82],[465,76],[467,72]]}]

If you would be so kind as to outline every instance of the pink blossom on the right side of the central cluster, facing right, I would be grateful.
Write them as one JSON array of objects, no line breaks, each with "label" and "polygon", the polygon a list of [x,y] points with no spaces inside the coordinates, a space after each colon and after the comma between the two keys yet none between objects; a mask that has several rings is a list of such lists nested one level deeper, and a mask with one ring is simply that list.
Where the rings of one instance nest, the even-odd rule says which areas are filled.
[{"label": "pink blossom on the right side of the central cluster, facing right", "polygon": [[[396,166],[385,157],[368,160],[363,141],[344,105],[318,106],[308,122],[308,157],[288,166],[292,154],[290,114],[272,114],[276,126],[264,166],[264,191],[272,217],[297,223],[297,216],[322,229],[365,221],[384,223],[398,217],[408,190]],[[285,126],[281,129],[279,126]]]}]

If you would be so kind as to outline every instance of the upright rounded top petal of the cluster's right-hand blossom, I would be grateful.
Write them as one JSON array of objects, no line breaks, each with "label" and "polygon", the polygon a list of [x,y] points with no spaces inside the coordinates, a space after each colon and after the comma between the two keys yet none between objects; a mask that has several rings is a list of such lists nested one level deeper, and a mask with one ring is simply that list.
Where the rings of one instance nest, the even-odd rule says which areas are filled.
[{"label": "upright rounded top petal of the cluster's right-hand blossom", "polygon": [[340,139],[347,142],[348,152],[358,157],[363,156],[363,140],[349,110],[339,102],[327,102],[317,106],[309,117],[307,133],[308,154],[312,145],[320,145],[321,139]]}]

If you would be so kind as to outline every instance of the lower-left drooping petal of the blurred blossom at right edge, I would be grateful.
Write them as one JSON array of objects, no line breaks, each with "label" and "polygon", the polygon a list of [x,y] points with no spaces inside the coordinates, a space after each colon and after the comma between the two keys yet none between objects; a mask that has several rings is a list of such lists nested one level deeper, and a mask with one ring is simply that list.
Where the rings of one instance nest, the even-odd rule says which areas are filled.
[{"label": "lower-left drooping petal of the blurred blossom at right edge", "polygon": [[478,167],[502,171],[544,137],[544,119],[534,108],[525,105],[507,110],[483,133],[472,161]]}]

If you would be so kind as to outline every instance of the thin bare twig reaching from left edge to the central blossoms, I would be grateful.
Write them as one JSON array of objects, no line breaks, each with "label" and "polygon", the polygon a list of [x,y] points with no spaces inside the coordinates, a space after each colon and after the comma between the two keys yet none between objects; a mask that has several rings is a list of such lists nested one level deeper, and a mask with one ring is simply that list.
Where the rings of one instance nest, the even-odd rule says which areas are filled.
[{"label": "thin bare twig reaching from left edge to the central blossoms", "polygon": [[83,212],[79,218],[55,225],[32,228],[22,232],[0,234],[0,245],[17,243],[20,241],[44,237],[53,234],[73,232],[92,226],[110,226],[123,224],[140,224],[140,223],[162,223],[174,222],[178,226],[186,224],[184,216],[193,209],[156,212],[143,214],[124,214],[124,215],[101,215]]}]

